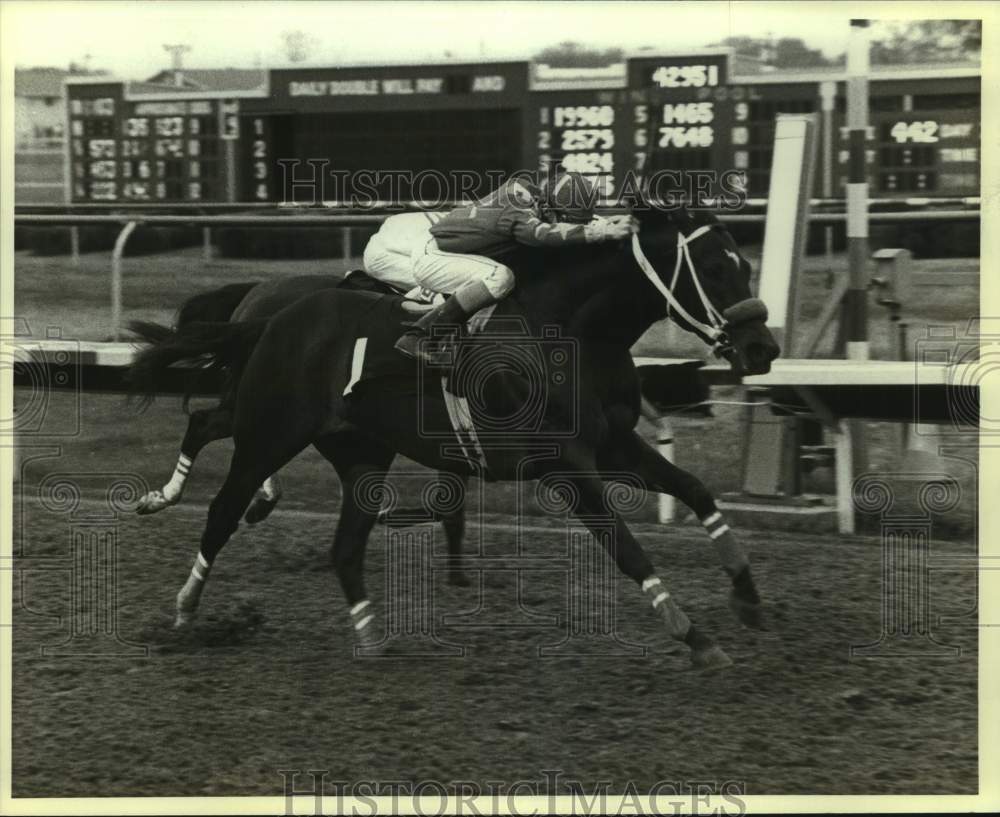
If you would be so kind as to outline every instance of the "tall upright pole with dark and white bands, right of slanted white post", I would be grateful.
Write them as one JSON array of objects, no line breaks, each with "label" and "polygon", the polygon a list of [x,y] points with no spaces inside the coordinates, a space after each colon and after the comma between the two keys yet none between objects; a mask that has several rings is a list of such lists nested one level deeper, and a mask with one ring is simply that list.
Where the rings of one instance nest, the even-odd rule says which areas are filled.
[{"label": "tall upright pole with dark and white bands, right of slanted white post", "polygon": [[847,357],[868,360],[868,20],[851,20],[847,47],[847,252],[850,288],[844,298]]}]

